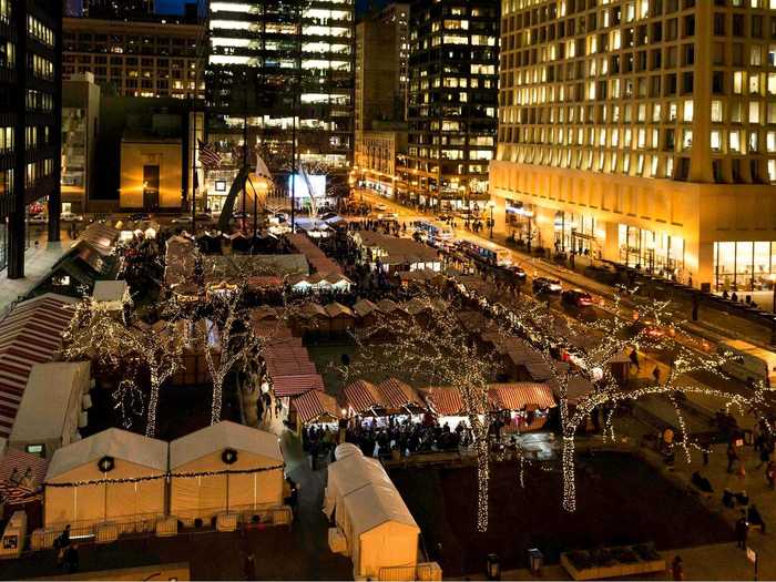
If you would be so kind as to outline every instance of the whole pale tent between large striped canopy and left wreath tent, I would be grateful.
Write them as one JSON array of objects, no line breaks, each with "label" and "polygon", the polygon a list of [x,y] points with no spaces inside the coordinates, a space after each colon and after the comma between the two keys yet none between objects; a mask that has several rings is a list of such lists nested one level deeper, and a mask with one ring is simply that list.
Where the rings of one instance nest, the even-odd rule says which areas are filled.
[{"label": "whole pale tent between large striped canopy and left wreath tent", "polygon": [[13,422],[9,445],[49,459],[57,449],[76,440],[90,364],[35,364]]}]

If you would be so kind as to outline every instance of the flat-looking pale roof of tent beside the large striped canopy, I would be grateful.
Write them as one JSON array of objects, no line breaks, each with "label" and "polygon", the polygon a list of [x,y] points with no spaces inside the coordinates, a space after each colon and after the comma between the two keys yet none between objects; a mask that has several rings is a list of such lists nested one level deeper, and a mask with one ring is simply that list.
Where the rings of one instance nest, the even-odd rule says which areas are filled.
[{"label": "flat-looking pale roof of tent beside the large striped canopy", "polygon": [[35,364],[27,379],[10,440],[60,438],[68,404],[79,385],[89,382],[89,368],[88,361]]}]

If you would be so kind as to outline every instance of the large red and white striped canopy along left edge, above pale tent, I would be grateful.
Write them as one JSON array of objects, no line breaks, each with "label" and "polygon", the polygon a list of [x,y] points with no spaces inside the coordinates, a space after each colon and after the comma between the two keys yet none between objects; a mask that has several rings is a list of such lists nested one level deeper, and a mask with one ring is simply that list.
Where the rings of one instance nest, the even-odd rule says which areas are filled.
[{"label": "large red and white striped canopy along left edge, above pale tent", "polygon": [[47,294],[17,305],[0,321],[0,437],[8,438],[35,364],[51,360],[73,317],[75,299]]}]

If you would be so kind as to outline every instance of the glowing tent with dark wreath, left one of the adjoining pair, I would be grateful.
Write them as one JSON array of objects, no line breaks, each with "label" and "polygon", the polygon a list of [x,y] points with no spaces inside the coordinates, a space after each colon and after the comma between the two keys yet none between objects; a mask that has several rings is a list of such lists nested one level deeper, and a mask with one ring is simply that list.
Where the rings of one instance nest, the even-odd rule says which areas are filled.
[{"label": "glowing tent with dark wreath, left one of the adjoining pair", "polygon": [[45,473],[45,527],[155,520],[166,469],[166,442],[118,428],[63,447]]}]

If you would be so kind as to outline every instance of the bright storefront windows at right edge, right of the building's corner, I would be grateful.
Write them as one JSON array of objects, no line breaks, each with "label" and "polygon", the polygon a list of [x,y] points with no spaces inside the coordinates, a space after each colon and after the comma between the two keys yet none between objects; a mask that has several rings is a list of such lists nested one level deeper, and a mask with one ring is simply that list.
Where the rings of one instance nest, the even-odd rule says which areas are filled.
[{"label": "bright storefront windows at right edge, right of the building's corner", "polygon": [[714,286],[717,292],[773,289],[776,242],[714,243]]}]

